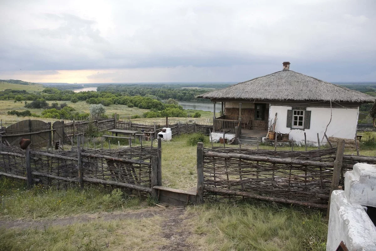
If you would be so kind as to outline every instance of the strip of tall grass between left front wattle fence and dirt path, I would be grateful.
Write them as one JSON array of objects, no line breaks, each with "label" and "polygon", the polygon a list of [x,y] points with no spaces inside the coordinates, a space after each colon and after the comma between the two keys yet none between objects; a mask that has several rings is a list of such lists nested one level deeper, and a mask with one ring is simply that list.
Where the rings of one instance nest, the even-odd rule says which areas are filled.
[{"label": "strip of tall grass between left front wattle fence and dirt path", "polygon": [[36,185],[30,190],[22,181],[0,178],[0,216],[8,218],[53,218],[72,214],[117,211],[137,208],[138,196],[129,196],[120,189],[87,187],[57,190]]}]

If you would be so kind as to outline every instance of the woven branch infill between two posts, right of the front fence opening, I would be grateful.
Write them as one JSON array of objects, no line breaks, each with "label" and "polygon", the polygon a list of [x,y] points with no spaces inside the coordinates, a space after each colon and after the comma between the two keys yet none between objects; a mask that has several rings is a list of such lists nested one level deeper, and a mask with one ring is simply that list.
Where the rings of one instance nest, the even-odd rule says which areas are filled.
[{"label": "woven branch infill between two posts, right of the front fence opening", "polygon": [[[214,152],[214,155],[215,153],[241,153],[249,156],[316,161],[323,162],[323,166],[208,157],[206,155],[209,152]],[[221,197],[239,197],[239,195],[230,195],[229,193],[209,192],[207,188],[212,187],[232,192],[246,192],[277,198],[280,201],[296,201],[296,204],[302,202],[301,204],[311,205],[312,207],[325,208],[328,203],[333,175],[333,167],[330,166],[333,163],[332,155],[335,152],[336,148],[306,152],[229,148],[205,149],[203,157],[204,198],[212,200]]]}]

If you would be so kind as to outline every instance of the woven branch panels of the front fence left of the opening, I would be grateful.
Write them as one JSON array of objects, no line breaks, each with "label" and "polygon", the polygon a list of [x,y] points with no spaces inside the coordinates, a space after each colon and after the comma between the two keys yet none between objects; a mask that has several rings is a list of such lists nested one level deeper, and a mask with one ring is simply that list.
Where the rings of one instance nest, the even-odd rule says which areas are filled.
[{"label": "woven branch panels of the front fence left of the opening", "polygon": [[[151,191],[151,158],[158,157],[155,147],[122,149],[81,149],[83,179],[86,184],[107,184]],[[77,187],[77,151],[30,151],[32,178],[58,189]],[[25,151],[0,145],[0,175],[26,180]],[[86,180],[85,180],[86,179]],[[91,180],[90,180],[91,179]],[[105,181],[105,182],[102,182]],[[146,189],[143,189],[146,188]]]}]

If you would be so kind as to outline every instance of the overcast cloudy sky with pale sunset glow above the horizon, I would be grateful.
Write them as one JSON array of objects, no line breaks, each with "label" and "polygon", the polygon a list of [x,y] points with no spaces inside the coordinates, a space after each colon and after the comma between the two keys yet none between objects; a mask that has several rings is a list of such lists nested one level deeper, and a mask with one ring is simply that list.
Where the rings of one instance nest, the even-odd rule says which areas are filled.
[{"label": "overcast cloudy sky with pale sunset glow above the horizon", "polygon": [[376,81],[375,0],[0,0],[0,79]]}]

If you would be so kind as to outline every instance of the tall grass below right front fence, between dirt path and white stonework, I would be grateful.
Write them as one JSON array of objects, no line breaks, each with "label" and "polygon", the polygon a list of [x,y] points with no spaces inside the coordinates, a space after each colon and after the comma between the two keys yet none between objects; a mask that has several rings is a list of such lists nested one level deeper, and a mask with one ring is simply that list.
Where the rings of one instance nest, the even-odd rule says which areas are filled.
[{"label": "tall grass below right front fence, between dirt path and white stonework", "polygon": [[321,213],[270,203],[204,204],[188,208],[204,250],[325,250],[327,223]]}]

